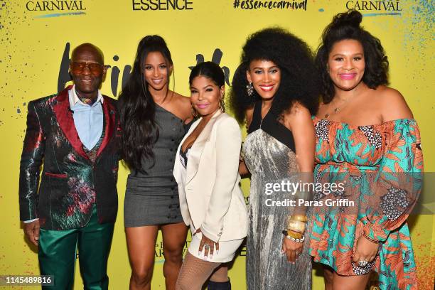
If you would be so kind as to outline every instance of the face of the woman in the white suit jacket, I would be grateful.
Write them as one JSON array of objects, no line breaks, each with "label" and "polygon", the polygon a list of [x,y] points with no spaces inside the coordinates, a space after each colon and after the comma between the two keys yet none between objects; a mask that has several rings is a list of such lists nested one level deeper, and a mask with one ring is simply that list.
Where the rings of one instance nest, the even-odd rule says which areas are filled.
[{"label": "face of the woman in the white suit jacket", "polygon": [[218,85],[208,77],[198,75],[190,85],[190,102],[202,117],[213,115],[219,109],[219,101],[225,94],[225,86]]}]

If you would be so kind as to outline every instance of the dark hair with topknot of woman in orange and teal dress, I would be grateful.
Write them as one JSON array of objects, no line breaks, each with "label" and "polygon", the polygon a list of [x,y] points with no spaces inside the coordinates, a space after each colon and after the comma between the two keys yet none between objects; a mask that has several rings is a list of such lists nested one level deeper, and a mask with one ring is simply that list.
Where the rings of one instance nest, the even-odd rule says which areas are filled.
[{"label": "dark hair with topknot of woman in orange and teal dress", "polygon": [[329,53],[338,41],[353,39],[363,45],[365,58],[365,73],[363,82],[367,87],[376,89],[379,85],[388,84],[388,60],[384,48],[378,38],[372,36],[360,26],[363,15],[351,10],[334,16],[333,21],[326,26],[322,34],[322,43],[316,55],[316,67],[321,76],[321,96],[327,104],[333,100],[335,87],[329,76],[327,64]]}]

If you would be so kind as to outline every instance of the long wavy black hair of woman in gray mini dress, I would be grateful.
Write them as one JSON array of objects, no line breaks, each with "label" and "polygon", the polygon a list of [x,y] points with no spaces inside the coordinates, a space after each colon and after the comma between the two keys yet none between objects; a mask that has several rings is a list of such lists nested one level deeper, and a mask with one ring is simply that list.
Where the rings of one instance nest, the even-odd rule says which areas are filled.
[{"label": "long wavy black hair of woman in gray mini dress", "polygon": [[[151,52],[159,52],[169,66],[173,65],[171,52],[161,36],[145,36],[139,42],[133,69],[127,84],[119,95],[121,117],[121,150],[131,171],[144,173],[142,159],[153,159],[153,145],[159,138],[156,126],[156,104],[144,77],[144,63]],[[169,74],[168,74],[169,77]]]}]

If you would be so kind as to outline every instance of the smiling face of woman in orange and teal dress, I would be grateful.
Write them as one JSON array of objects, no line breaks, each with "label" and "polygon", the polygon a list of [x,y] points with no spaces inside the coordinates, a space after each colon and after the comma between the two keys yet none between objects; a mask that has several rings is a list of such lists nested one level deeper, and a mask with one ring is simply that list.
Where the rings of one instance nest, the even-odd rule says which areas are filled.
[{"label": "smiling face of woman in orange and teal dress", "polygon": [[353,39],[338,41],[328,56],[328,73],[335,90],[353,90],[363,80],[365,59],[363,45]]}]

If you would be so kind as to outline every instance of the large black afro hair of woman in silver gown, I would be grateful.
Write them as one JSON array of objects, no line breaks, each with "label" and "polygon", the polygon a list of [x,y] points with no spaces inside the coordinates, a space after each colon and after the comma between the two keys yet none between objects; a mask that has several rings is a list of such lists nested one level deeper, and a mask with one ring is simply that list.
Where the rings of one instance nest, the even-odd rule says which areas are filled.
[{"label": "large black afro hair of woman in silver gown", "polygon": [[247,38],[242,48],[241,63],[232,79],[230,107],[238,122],[245,122],[245,112],[261,97],[254,90],[247,95],[246,72],[252,60],[269,60],[281,70],[281,82],[272,107],[277,118],[294,102],[303,104],[316,114],[320,80],[308,45],[283,28],[266,28]]}]

